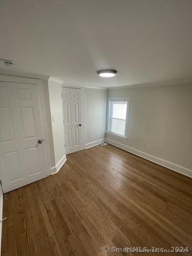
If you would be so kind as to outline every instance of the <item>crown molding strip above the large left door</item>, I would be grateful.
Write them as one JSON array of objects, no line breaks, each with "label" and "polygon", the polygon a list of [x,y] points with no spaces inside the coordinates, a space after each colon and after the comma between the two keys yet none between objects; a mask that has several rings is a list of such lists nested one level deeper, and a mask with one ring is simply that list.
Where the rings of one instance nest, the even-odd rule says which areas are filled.
[{"label": "crown molding strip above the large left door", "polygon": [[49,76],[33,74],[33,73],[25,73],[25,72],[19,72],[19,71],[7,70],[7,69],[0,69],[0,75],[41,79],[41,80],[47,80],[49,78]]}]

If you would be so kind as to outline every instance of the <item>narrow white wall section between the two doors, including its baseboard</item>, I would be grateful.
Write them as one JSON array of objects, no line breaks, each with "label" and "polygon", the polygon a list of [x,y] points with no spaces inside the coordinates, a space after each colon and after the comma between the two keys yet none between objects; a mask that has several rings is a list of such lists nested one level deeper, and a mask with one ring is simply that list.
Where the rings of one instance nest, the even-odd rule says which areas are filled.
[{"label": "narrow white wall section between the two doors, including its baseboard", "polygon": [[52,81],[48,81],[48,83],[55,159],[55,165],[52,166],[52,172],[55,172],[59,170],[66,159],[63,131],[61,84]]}]

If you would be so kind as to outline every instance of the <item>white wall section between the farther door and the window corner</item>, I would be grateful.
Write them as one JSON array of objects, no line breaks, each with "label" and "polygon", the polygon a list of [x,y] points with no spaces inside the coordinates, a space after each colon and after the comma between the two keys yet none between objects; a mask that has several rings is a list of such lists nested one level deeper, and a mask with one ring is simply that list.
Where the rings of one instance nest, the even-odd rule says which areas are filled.
[{"label": "white wall section between the farther door and the window corner", "polygon": [[86,147],[105,140],[107,90],[85,89]]}]

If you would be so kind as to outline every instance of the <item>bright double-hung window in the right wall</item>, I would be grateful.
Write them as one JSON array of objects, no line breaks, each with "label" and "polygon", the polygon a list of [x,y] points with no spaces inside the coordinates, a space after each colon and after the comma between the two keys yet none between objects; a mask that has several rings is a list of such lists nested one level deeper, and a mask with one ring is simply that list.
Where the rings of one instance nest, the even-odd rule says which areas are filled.
[{"label": "bright double-hung window in the right wall", "polygon": [[109,99],[108,132],[127,137],[129,99]]}]

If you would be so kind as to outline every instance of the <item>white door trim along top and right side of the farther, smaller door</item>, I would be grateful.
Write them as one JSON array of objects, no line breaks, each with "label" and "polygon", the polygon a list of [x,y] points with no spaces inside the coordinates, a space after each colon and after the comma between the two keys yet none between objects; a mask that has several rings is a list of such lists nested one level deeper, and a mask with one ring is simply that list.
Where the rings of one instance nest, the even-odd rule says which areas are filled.
[{"label": "white door trim along top and right side of the farther, smaller door", "polygon": [[[85,88],[80,86],[62,85],[62,88],[74,88],[81,90],[81,107],[82,107],[82,149],[85,149]],[[65,139],[65,138],[64,138]]]}]

